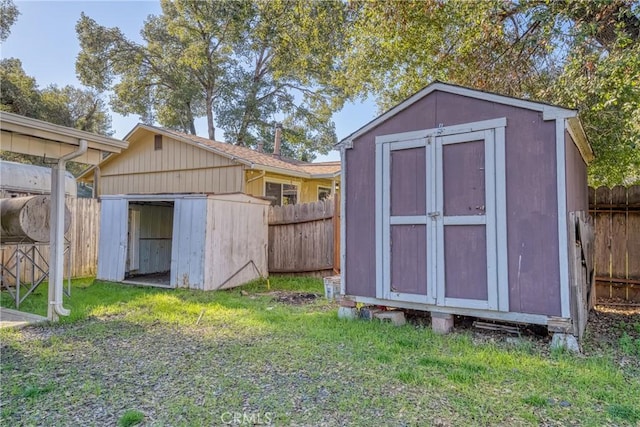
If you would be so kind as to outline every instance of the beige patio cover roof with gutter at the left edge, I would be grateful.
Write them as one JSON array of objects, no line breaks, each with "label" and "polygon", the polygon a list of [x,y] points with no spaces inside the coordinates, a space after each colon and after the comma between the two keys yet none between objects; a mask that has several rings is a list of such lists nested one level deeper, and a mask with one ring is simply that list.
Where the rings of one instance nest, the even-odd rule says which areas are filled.
[{"label": "beige patio cover roof with gutter at the left edge", "polygon": [[76,151],[85,140],[87,152],[74,161],[91,165],[100,163],[102,153],[119,153],[128,146],[119,139],[7,112],[0,112],[0,130],[2,150],[51,159]]}]

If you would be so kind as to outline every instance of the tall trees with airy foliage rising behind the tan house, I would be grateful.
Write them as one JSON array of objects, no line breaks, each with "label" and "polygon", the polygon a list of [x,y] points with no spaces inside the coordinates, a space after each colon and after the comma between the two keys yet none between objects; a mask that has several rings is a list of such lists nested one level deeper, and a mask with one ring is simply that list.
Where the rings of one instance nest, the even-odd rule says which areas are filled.
[{"label": "tall trees with airy foliage rising behind the tan house", "polygon": [[163,1],[142,44],[83,15],[76,70],[84,84],[113,89],[115,111],[189,133],[206,115],[210,139],[217,125],[246,146],[280,121],[283,144],[310,156],[336,140],[340,97],[328,88],[345,10],[340,1]]}]

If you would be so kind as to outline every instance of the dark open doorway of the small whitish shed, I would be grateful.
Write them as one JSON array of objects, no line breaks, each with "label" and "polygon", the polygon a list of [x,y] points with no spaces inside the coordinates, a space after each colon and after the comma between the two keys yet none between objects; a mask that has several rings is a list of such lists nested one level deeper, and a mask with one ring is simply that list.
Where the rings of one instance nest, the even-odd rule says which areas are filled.
[{"label": "dark open doorway of the small whitish shed", "polygon": [[171,287],[173,201],[130,201],[125,283]]}]

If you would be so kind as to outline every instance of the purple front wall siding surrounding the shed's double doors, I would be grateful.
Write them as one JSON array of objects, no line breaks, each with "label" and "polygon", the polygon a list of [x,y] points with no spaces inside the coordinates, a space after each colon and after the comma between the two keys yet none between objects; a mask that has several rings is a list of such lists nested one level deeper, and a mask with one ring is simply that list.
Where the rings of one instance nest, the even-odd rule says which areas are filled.
[{"label": "purple front wall siding surrounding the shed's double doors", "polygon": [[542,113],[433,92],[346,150],[346,293],[375,297],[375,137],[507,118],[509,310],[560,315],[555,122]]}]

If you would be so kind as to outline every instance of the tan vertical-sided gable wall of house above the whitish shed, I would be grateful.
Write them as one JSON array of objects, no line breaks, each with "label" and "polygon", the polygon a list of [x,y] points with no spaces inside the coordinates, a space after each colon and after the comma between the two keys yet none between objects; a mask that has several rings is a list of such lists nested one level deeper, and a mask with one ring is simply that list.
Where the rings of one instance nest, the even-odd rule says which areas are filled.
[{"label": "tan vertical-sided gable wall of house above the whitish shed", "polygon": [[101,167],[100,195],[126,193],[233,193],[242,191],[243,166],[196,146],[164,137],[154,149],[145,132]]}]

